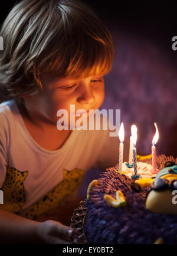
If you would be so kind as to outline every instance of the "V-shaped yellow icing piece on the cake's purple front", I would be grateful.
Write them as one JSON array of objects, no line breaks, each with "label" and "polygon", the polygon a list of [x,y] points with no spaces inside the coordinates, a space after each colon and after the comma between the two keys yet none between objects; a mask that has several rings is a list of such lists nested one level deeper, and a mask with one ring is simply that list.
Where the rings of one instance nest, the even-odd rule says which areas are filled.
[{"label": "V-shaped yellow icing piece on the cake's purple front", "polygon": [[104,200],[108,205],[113,206],[115,208],[126,206],[127,203],[122,191],[120,190],[117,190],[116,192],[116,199],[114,199],[110,195],[104,195]]}]

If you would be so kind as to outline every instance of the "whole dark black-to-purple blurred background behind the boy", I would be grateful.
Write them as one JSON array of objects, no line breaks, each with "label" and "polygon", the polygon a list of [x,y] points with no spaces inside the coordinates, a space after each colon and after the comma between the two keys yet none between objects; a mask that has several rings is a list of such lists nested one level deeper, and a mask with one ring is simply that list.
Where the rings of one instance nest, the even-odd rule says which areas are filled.
[{"label": "whole dark black-to-purple blurred background behind the boy", "polygon": [[[5,1],[1,20],[19,1]],[[158,124],[157,154],[177,157],[177,35],[176,5],[172,1],[84,0],[109,28],[114,40],[113,68],[105,77],[101,108],[121,109],[126,135],[137,125],[137,151],[150,154]]]}]

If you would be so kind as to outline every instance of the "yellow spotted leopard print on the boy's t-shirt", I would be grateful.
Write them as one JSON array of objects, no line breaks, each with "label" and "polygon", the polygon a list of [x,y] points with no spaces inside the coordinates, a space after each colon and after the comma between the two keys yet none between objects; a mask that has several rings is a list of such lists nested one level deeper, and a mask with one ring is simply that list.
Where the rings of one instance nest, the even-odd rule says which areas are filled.
[{"label": "yellow spotted leopard print on the boy's t-shirt", "polygon": [[[48,210],[60,206],[61,202],[76,190],[78,184],[83,179],[84,171],[75,168],[72,171],[63,170],[64,179],[57,184],[47,195],[42,196],[35,202],[25,217],[35,219]],[[28,171],[18,171],[16,168],[9,167],[6,170],[6,177],[1,190],[4,193],[4,204],[0,205],[0,209],[6,210],[14,214],[20,214],[22,207],[25,205],[25,189],[24,180],[28,175]]]}]

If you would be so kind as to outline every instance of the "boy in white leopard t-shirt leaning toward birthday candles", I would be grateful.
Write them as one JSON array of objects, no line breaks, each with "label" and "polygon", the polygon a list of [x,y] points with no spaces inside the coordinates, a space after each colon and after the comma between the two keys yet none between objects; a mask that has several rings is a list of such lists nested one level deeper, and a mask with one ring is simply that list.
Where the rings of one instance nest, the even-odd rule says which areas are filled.
[{"label": "boy in white leopard t-shirt leaning toward birthday candles", "polygon": [[[85,109],[86,123],[89,109],[103,103],[112,36],[75,0],[24,0],[6,17],[0,34],[1,89],[9,99],[0,106],[1,242],[68,243],[73,229],[34,220],[67,196],[75,200],[91,167],[118,162],[118,137],[103,129],[73,130],[70,119]],[[68,129],[57,129],[59,109],[71,114]]]}]

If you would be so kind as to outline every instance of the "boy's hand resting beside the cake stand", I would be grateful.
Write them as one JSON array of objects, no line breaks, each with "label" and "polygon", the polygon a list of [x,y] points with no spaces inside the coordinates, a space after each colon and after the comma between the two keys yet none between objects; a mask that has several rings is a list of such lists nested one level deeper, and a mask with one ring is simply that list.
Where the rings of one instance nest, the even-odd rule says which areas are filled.
[{"label": "boy's hand resting beside the cake stand", "polygon": [[68,237],[74,235],[74,229],[57,221],[45,221],[37,226],[37,235],[46,244],[73,244]]}]

